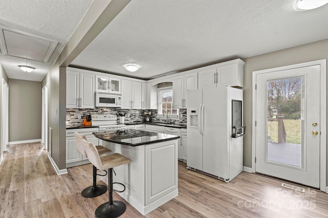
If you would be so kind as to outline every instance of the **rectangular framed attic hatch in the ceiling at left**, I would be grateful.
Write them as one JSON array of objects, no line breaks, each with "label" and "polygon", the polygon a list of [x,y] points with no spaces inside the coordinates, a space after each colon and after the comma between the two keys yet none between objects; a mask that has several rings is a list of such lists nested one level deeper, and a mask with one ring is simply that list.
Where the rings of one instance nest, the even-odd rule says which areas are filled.
[{"label": "rectangular framed attic hatch in the ceiling at left", "polygon": [[47,63],[57,44],[57,41],[12,30],[0,31],[0,48],[3,55]]}]

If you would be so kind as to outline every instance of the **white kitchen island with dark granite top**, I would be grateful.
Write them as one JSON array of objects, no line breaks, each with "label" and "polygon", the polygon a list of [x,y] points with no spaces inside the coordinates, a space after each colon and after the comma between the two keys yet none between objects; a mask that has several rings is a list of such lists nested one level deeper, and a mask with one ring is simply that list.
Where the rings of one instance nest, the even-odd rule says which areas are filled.
[{"label": "white kitchen island with dark granite top", "polygon": [[[113,153],[131,159],[131,163],[114,168],[113,181],[125,184],[126,190],[118,195],[142,215],[178,196],[179,136],[133,129],[93,135]],[[107,177],[101,180],[108,184]],[[121,190],[116,184],[113,188]]]}]

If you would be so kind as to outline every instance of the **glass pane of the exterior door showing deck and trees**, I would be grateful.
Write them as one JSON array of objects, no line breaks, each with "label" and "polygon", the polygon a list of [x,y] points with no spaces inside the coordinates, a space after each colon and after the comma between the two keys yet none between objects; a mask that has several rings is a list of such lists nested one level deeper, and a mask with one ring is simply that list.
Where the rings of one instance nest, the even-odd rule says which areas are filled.
[{"label": "glass pane of the exterior door showing deck and trees", "polygon": [[303,81],[268,81],[267,161],[302,166]]}]

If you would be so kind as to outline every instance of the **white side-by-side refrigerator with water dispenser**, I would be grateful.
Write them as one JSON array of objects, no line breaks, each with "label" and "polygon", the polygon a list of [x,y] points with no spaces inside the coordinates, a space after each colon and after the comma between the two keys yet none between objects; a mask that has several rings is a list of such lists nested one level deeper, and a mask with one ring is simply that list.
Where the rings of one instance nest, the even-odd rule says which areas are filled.
[{"label": "white side-by-side refrigerator with water dispenser", "polygon": [[243,91],[219,86],[187,98],[187,168],[230,182],[243,170]]}]

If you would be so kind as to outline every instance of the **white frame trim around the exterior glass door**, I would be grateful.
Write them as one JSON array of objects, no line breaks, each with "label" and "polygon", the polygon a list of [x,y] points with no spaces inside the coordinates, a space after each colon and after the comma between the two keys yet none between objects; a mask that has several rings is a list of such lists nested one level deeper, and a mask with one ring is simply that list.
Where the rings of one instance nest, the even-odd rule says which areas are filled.
[{"label": "white frame trim around the exterior glass door", "polygon": [[[273,71],[287,70],[293,68],[300,68],[306,66],[320,65],[320,190],[327,192],[326,190],[326,59],[310,61],[305,63],[293,64],[282,67],[275,67],[270,69],[263,69],[253,71],[252,81],[252,173],[256,172],[255,157],[256,157],[256,76],[258,74],[264,74]],[[324,145],[324,146],[323,146]]]}]

